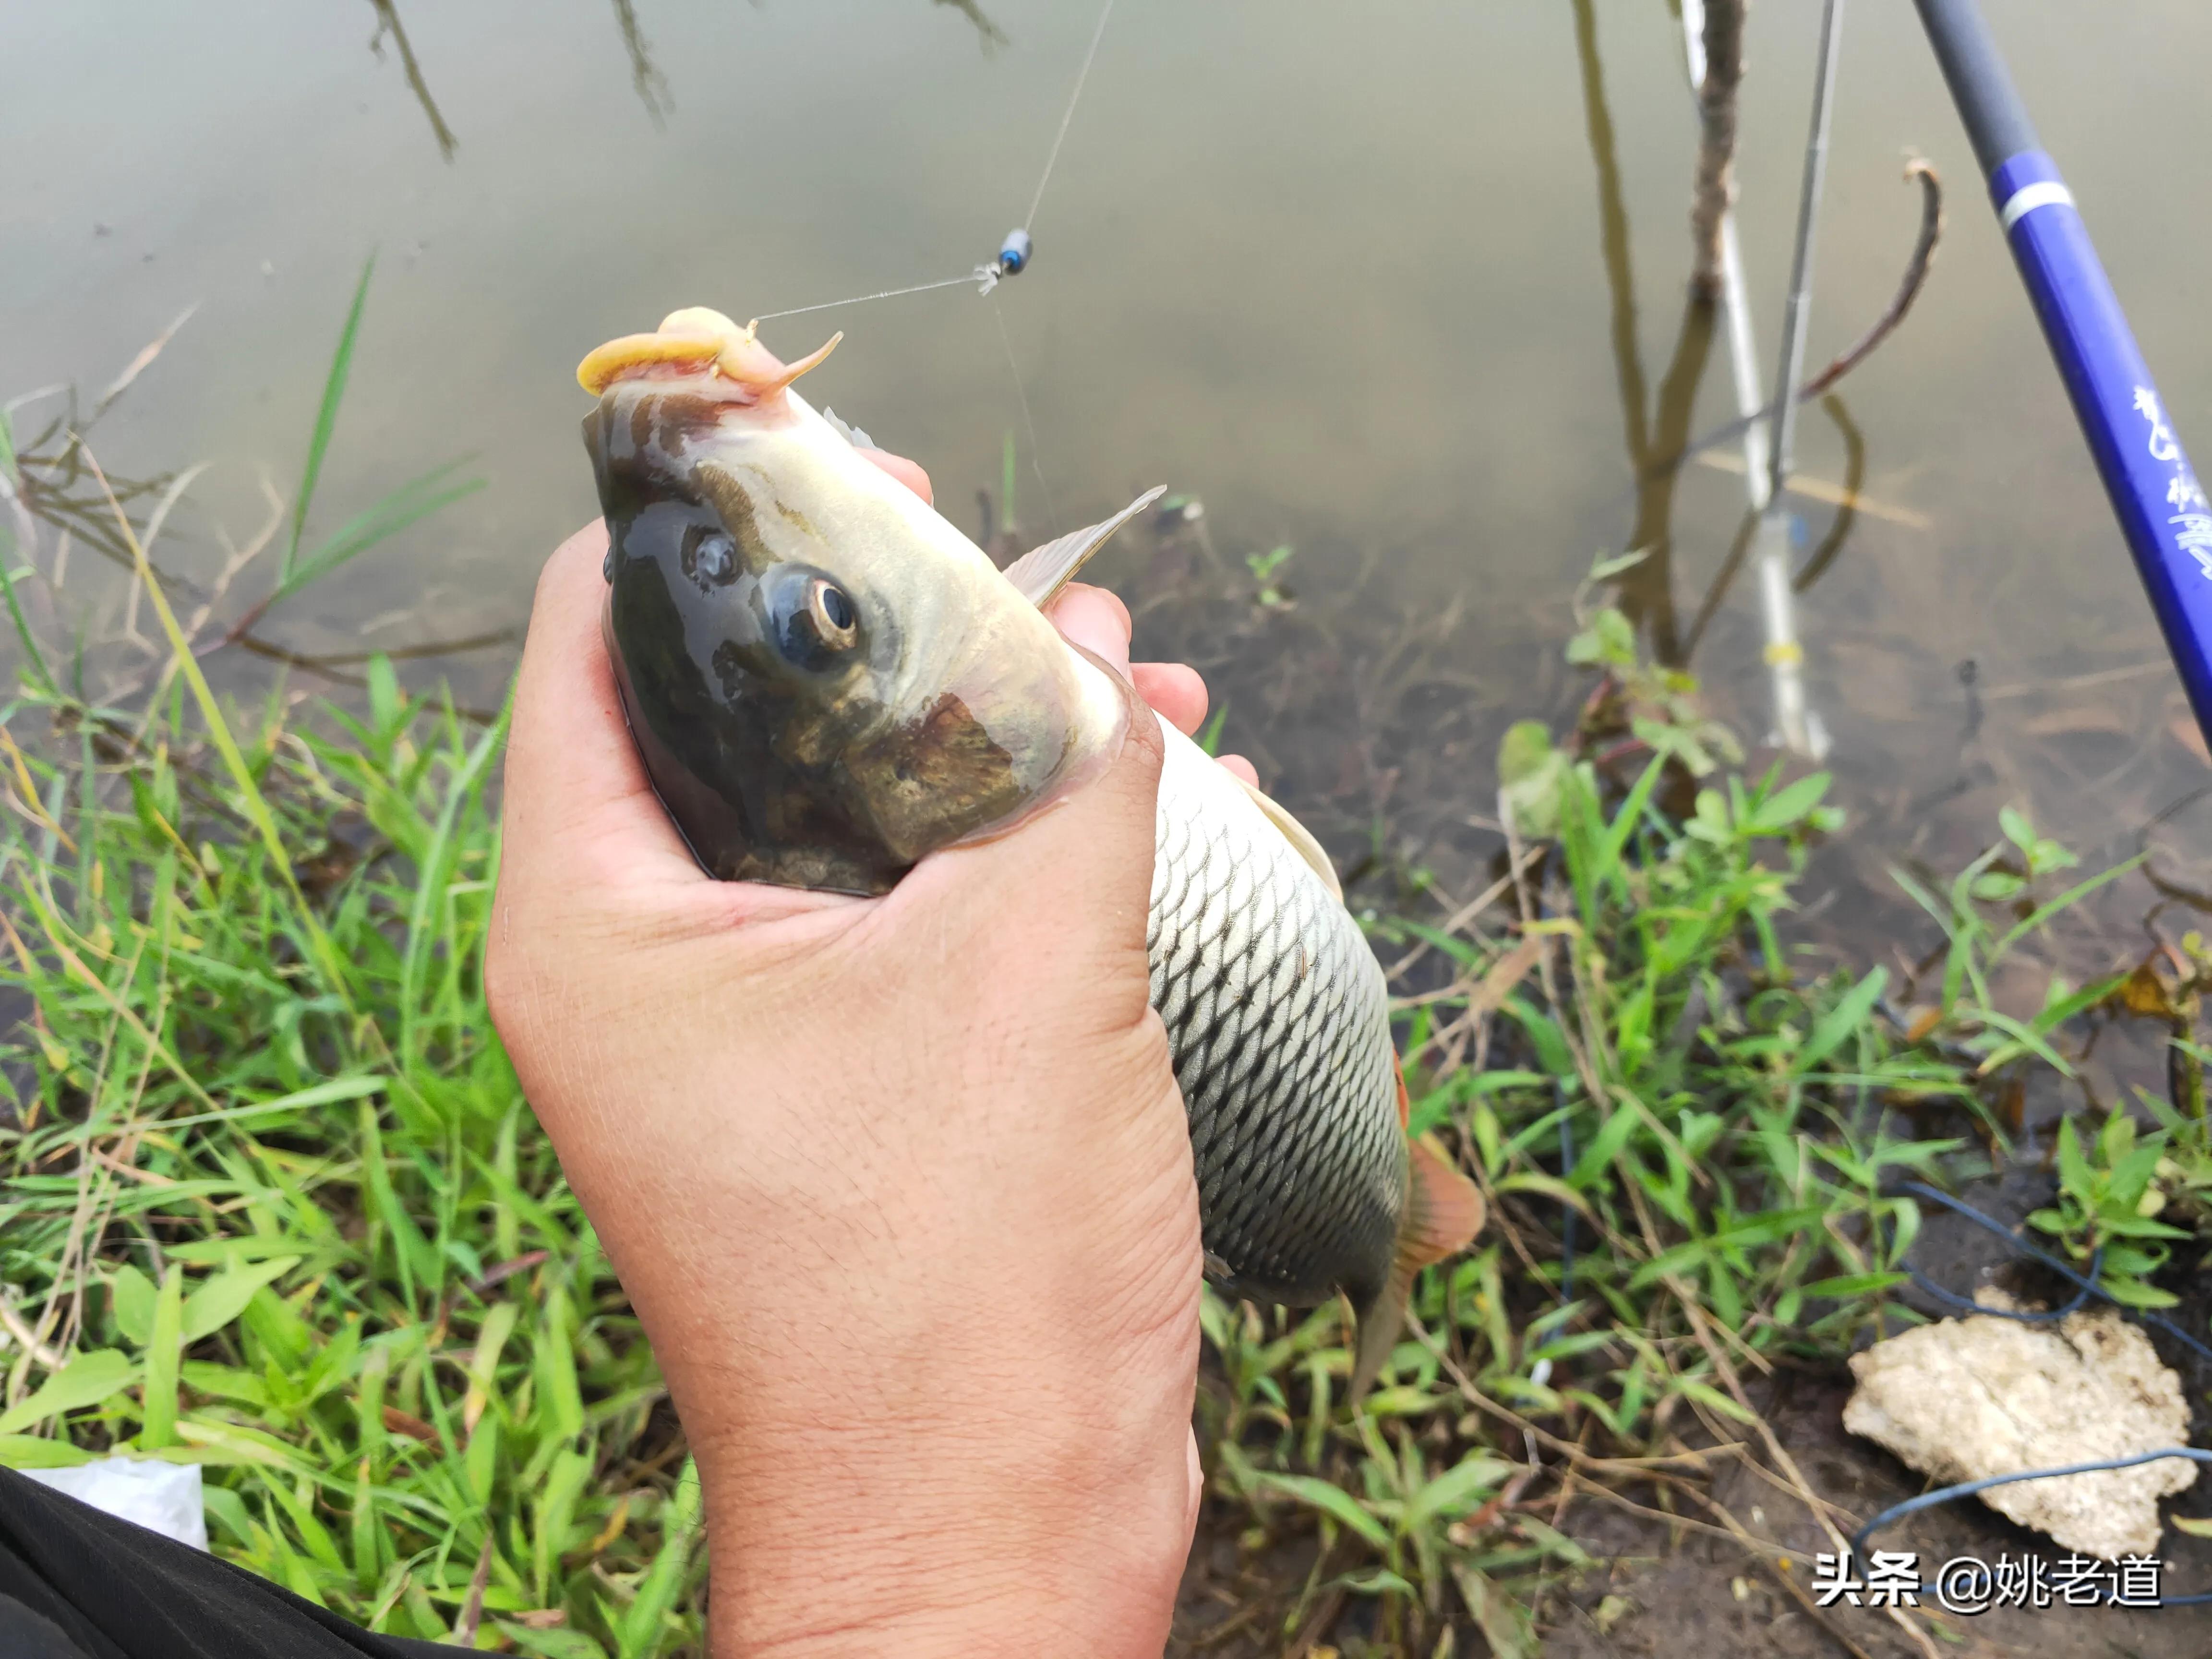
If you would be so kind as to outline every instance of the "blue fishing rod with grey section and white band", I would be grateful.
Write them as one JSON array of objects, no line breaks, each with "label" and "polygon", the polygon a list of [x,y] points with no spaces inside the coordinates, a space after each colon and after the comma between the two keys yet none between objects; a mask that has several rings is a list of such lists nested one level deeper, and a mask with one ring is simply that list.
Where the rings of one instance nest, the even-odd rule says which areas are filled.
[{"label": "blue fishing rod with grey section and white band", "polygon": [[2212,741],[2212,507],[1978,0],[1913,2],[2197,726]]}]

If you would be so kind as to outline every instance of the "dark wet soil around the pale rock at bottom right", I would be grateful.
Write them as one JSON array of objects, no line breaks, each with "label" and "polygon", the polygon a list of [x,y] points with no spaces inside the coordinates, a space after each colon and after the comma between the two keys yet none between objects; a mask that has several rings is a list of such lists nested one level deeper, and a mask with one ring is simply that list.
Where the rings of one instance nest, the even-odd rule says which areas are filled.
[{"label": "dark wet soil around the pale rock at bottom right", "polygon": [[[2051,1201],[2051,1177],[2033,1161],[1962,1192],[1993,1221],[2022,1230],[2026,1214]],[[2033,1234],[2031,1234],[2033,1237]],[[2181,1305],[2166,1316],[2185,1332],[2212,1321],[2212,1274],[2185,1252],[2166,1285]],[[1971,1221],[1927,1206],[1927,1221],[1911,1252],[1911,1265],[1953,1294],[1971,1296],[1995,1285],[2022,1305],[2055,1305],[2070,1294],[2057,1276],[2024,1263],[2004,1239]],[[1913,1312],[1940,1318],[1949,1310],[1916,1285],[1900,1290]],[[2166,1332],[2148,1327],[2159,1358],[2174,1367],[2183,1398],[2192,1402],[2190,1442],[2212,1438],[2212,1360],[2192,1354]],[[1843,1429],[1843,1405],[1851,1394],[1845,1367],[1781,1369],[1763,1387],[1747,1380],[1776,1438],[1798,1464],[1814,1493],[1834,1504],[1838,1526],[1849,1533],[1867,1517],[1905,1502],[1929,1482],[1893,1455]],[[1544,1425],[1575,1433],[1577,1425]],[[1504,1455],[1517,1455],[1502,1447]],[[1670,1500],[1652,1489],[1619,1486],[1597,1491],[1577,1482],[1562,1502],[1559,1484],[1546,1475],[1531,1495],[1506,1511],[1486,1544],[1513,1544],[1515,1515],[1531,1515],[1575,1540],[1595,1566],[1551,1579],[1522,1579],[1515,1595],[1535,1608],[1535,1628],[1546,1659],[1628,1659],[1630,1655],[1694,1655],[1697,1659],[2205,1659],[2212,1655],[2212,1606],[2053,1606],[1991,1608],[1980,1615],[1940,1610],[1933,1595],[1909,1615],[1920,1639],[1907,1635],[1885,1610],[1807,1606],[1814,1595],[1814,1557],[1832,1551],[1825,1528],[1794,1495],[1741,1462],[1717,1462],[1710,1498],[1725,1506],[1759,1540],[1787,1551],[1776,1559],[1728,1537],[1674,1528],[1626,1504],[1650,1511]],[[2168,1526],[2159,1542],[2163,1595],[2212,1593],[2212,1540],[2190,1537],[2174,1517],[2212,1517],[2212,1480],[2199,1480],[2163,1506]],[[1692,1520],[1703,1511],[1681,1506]],[[1849,1517],[1849,1520],[1845,1520]],[[1310,1577],[1343,1573],[1349,1551],[1314,1575],[1316,1540],[1305,1528],[1256,1535],[1252,1513],[1208,1498],[1199,1537],[1190,1553],[1177,1617],[1175,1659],[1225,1655],[1228,1659],[1329,1659],[1340,1655],[1431,1655],[1449,1621],[1455,1657],[1489,1655],[1469,1608],[1447,1590],[1442,1619],[1433,1621],[1418,1648],[1376,1639],[1376,1604],[1360,1597],[1318,1597],[1292,1635],[1283,1635],[1301,1588]],[[2039,1533],[2006,1522],[1975,1500],[1944,1504],[1885,1528],[1869,1548],[1913,1551],[1931,1582],[1942,1562],[2000,1555],[2035,1557],[2055,1573],[2066,1555]],[[1929,1646],[1933,1644],[1933,1646]],[[1522,1655],[1511,1655],[1522,1659]]]}]

